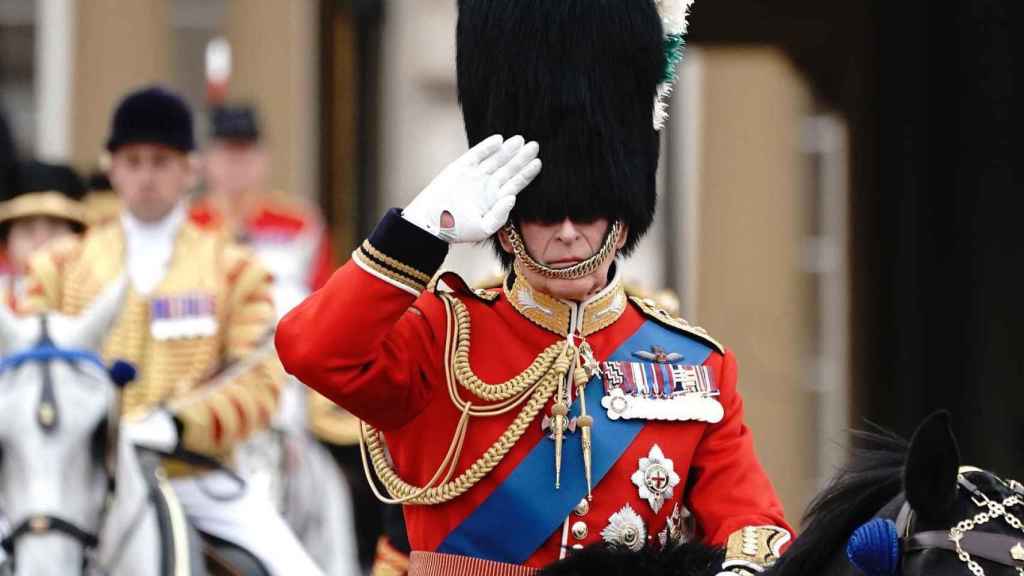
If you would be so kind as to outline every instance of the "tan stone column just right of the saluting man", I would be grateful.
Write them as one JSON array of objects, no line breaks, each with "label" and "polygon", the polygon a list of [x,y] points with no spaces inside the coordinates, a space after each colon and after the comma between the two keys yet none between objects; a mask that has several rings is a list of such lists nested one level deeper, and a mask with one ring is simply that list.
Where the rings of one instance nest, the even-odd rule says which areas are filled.
[{"label": "tan stone column just right of the saluting man", "polygon": [[816,488],[801,150],[812,99],[772,48],[709,47],[700,63],[694,320],[736,354],[746,422],[796,521]]}]

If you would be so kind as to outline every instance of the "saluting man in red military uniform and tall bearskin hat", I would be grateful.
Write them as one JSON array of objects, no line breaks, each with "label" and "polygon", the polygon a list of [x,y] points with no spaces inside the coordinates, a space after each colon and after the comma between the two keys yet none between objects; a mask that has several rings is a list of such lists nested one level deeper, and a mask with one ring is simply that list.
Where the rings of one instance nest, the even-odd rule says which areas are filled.
[{"label": "saluting man in red military uniform and tall bearskin hat", "polygon": [[[732,354],[630,298],[616,265],[653,218],[688,4],[462,0],[478,143],[279,325],[285,367],[366,422],[414,576],[530,574],[591,544],[688,538],[751,574],[791,538]],[[487,239],[500,289],[434,278],[450,244]]]}]

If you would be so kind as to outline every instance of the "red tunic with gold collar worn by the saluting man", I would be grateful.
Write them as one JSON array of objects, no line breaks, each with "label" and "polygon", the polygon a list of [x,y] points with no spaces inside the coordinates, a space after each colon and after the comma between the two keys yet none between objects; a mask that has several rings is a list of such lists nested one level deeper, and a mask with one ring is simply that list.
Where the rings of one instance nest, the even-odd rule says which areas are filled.
[{"label": "red tunic with gold collar worn by the saluting man", "polygon": [[[417,486],[434,475],[460,416],[450,399],[443,371],[444,306],[437,295],[423,291],[424,279],[440,265],[445,250],[446,245],[392,211],[348,263],[282,320],[276,336],[288,371],[384,430],[399,475]],[[558,301],[540,293],[523,294],[522,290],[530,288],[521,281],[513,285],[510,279],[500,293],[481,294],[465,288],[457,277],[449,275],[444,280],[469,310],[470,365],[485,382],[512,378],[544,348],[566,338],[564,329],[555,328],[557,322],[546,321],[552,315],[546,315],[545,308],[552,312]],[[651,321],[637,303],[627,303],[620,290],[617,282],[609,285],[600,302],[604,310],[588,312],[584,322],[578,323],[599,361],[644,322]],[[695,332],[687,337],[701,338]],[[627,504],[643,519],[650,541],[657,541],[677,502],[692,511],[698,533],[711,544],[723,544],[745,526],[790,529],[757,460],[751,431],[743,424],[735,359],[730,352],[716,347],[713,340],[707,342],[715,349],[705,365],[719,384],[724,419],[716,424],[646,422],[594,487],[589,510],[584,515],[567,511],[566,530],[552,533],[526,565],[540,567],[557,560],[562,545],[601,541],[601,531],[610,517]],[[517,413],[514,410],[471,420],[456,474],[486,451]],[[547,413],[550,405],[543,411]],[[439,505],[407,506],[412,549],[437,549],[535,445],[549,442],[543,435],[540,421],[531,424],[498,467],[461,497]],[[657,512],[641,499],[631,481],[640,458],[648,456],[654,445],[673,461],[682,479],[671,500]],[[553,490],[553,477],[552,464],[550,476],[537,478],[536,490]],[[585,529],[575,526],[578,523]]]}]

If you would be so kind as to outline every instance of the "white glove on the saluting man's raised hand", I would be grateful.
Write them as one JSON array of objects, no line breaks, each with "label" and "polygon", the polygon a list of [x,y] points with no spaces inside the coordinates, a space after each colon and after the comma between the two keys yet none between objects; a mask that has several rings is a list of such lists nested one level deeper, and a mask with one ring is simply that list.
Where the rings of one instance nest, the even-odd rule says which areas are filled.
[{"label": "white glove on the saluting man's raised hand", "polygon": [[486,240],[508,221],[516,195],[541,173],[540,150],[522,136],[490,136],[441,170],[401,216],[449,243]]}]

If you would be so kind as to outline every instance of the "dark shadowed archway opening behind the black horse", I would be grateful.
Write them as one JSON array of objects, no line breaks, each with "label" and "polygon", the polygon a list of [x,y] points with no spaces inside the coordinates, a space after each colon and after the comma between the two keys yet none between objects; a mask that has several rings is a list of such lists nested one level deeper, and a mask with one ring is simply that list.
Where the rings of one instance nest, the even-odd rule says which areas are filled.
[{"label": "dark shadowed archway opening behind the black horse", "polygon": [[948,409],[965,461],[1019,478],[1018,6],[716,0],[690,41],[783,48],[850,126],[853,421]]}]

